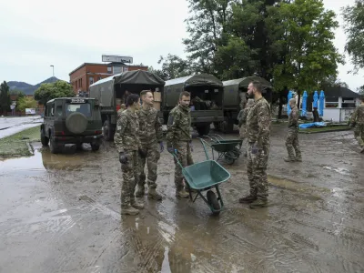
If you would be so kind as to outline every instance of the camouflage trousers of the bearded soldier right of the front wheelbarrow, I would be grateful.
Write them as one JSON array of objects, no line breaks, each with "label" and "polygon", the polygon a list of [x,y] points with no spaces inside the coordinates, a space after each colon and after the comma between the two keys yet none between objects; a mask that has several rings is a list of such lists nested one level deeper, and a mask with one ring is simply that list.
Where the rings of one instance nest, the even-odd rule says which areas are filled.
[{"label": "camouflage trousers of the bearded soldier right of the front wheelbarrow", "polygon": [[263,151],[257,154],[252,153],[254,143],[248,143],[248,180],[250,195],[259,199],[268,198],[268,177],[267,166],[269,157],[269,147],[264,147]]}]

